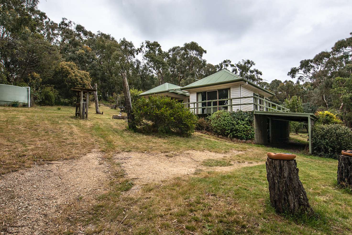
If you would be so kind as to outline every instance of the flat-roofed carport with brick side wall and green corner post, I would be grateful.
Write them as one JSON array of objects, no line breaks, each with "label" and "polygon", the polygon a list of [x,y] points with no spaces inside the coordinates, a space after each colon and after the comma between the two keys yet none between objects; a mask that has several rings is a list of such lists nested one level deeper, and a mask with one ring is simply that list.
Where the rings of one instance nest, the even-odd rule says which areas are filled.
[{"label": "flat-roofed carport with brick side wall and green corner post", "polygon": [[284,143],[290,137],[289,121],[308,123],[309,153],[312,153],[312,126],[317,117],[313,113],[254,111],[255,143]]}]

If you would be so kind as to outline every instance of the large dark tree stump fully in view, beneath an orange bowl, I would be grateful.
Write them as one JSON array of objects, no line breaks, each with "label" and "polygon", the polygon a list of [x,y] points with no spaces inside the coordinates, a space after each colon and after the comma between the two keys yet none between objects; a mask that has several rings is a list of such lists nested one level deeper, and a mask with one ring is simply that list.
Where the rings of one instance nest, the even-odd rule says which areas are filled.
[{"label": "large dark tree stump fully in view, beneath an orange bowl", "polygon": [[277,213],[313,213],[298,171],[296,160],[266,159],[270,203]]}]

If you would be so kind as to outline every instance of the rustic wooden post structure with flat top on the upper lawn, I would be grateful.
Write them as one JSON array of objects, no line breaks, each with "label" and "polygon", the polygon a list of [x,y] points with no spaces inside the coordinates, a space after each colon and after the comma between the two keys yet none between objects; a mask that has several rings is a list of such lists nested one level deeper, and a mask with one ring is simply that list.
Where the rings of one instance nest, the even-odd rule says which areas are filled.
[{"label": "rustic wooden post structure with flat top on the upper lawn", "polygon": [[88,119],[89,93],[95,92],[96,89],[74,87],[71,91],[75,91],[77,94],[75,116],[79,116],[81,119]]}]

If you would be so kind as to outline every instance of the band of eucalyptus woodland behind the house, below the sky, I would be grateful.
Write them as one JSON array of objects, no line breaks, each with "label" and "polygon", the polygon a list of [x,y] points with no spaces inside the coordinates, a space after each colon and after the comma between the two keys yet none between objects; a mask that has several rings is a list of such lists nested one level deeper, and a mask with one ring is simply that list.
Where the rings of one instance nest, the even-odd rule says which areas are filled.
[{"label": "band of eucalyptus woodland behind the house, below the sky", "polygon": [[70,89],[94,83],[101,99],[112,99],[122,91],[124,72],[138,93],[164,82],[187,85],[226,68],[276,93],[271,98],[275,103],[285,105],[296,96],[303,112],[329,110],[352,127],[351,36],[314,58],[297,61],[288,71],[291,79],[269,83],[249,59],[210,64],[203,58],[206,49],[196,42],[169,50],[158,42],[134,45],[123,35],[115,39],[93,33],[69,19],[54,22],[37,5],[38,0],[0,0],[0,84],[30,86],[34,103],[72,105]]}]

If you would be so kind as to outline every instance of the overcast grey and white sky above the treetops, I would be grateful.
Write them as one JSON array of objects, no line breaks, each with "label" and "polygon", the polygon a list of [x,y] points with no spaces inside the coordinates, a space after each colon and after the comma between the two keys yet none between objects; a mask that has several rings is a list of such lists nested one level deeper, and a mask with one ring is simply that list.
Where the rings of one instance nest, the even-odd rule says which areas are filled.
[{"label": "overcast grey and white sky above the treetops", "polygon": [[250,59],[269,82],[289,79],[291,67],[352,31],[352,0],[41,0],[39,9],[57,23],[65,17],[135,47],[195,41],[209,63]]}]

